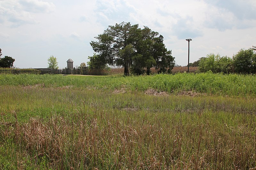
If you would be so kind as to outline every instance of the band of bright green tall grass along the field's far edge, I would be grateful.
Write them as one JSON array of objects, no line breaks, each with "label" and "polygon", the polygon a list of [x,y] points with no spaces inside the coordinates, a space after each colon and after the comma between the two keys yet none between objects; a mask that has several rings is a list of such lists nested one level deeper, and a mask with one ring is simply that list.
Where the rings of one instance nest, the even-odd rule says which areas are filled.
[{"label": "band of bright green tall grass along the field's far edge", "polygon": [[0,75],[0,85],[39,85],[44,87],[78,87],[144,92],[149,88],[169,93],[194,91],[228,96],[255,96],[255,75],[178,73],[154,76],[106,77],[61,75]]}]

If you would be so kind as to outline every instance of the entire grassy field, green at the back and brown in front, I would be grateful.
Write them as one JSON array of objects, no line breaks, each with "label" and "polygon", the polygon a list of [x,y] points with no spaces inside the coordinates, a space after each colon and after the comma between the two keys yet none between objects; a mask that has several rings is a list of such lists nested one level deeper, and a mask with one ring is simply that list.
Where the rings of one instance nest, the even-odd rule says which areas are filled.
[{"label": "entire grassy field, green at the back and brown in front", "polygon": [[256,78],[0,75],[1,169],[253,169]]}]

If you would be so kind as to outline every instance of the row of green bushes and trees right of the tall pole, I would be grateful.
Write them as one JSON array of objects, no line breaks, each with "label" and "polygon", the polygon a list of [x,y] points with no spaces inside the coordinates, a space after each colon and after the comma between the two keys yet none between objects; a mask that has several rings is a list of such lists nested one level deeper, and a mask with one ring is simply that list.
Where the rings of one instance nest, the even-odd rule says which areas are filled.
[{"label": "row of green bushes and trees right of the tall pole", "polygon": [[241,49],[232,58],[208,54],[189,66],[198,66],[200,72],[256,74],[256,48]]}]

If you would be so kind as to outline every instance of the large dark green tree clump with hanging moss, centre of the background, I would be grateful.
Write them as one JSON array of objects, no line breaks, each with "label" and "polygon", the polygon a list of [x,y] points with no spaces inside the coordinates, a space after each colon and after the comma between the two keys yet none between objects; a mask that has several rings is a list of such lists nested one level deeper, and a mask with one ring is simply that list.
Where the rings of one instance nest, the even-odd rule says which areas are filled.
[{"label": "large dark green tree clump with hanging moss, centre of the background", "polygon": [[133,74],[139,75],[145,71],[149,74],[153,66],[159,72],[170,72],[174,66],[174,57],[165,48],[164,37],[148,27],[141,29],[138,24],[122,22],[108,26],[107,30],[95,38],[98,41],[90,44],[98,54],[89,57],[90,66],[123,66],[124,75],[129,75],[129,70]]}]

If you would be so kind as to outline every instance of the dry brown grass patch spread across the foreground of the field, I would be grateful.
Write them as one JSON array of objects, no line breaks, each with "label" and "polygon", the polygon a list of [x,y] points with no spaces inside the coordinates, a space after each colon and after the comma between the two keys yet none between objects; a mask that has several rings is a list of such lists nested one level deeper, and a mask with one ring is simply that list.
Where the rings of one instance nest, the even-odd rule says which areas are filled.
[{"label": "dry brown grass patch spread across the foreground of the field", "polygon": [[[138,111],[128,107],[123,110],[132,114]],[[6,128],[2,128],[1,135],[13,137],[20,145],[19,152],[34,155],[31,161],[46,158],[53,169],[80,169],[81,164],[85,169],[109,166],[110,169],[244,169],[255,166],[256,154],[252,152],[255,145],[244,146],[236,137],[202,124],[203,112],[197,117],[197,123],[190,125],[167,121],[165,114],[153,118],[153,122],[148,121],[150,115],[140,120],[127,115],[127,120],[123,121],[118,115],[103,113],[100,119],[78,110],[73,112],[71,120],[53,116],[48,120],[31,118],[28,123],[20,123],[13,113],[16,122],[3,122]],[[251,136],[244,126],[227,128],[234,134]],[[256,142],[255,137],[252,140]],[[24,161],[18,164],[23,167]]]}]

